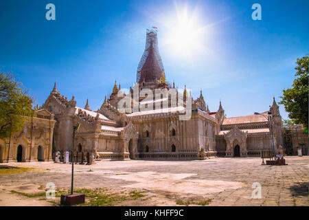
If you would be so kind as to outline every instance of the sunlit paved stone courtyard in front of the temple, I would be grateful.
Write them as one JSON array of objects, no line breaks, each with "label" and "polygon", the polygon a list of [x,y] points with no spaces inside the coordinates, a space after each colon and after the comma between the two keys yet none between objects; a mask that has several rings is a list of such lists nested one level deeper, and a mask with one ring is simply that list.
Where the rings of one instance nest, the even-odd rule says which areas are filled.
[{"label": "sunlit paved stone courtyard in front of the temple", "polygon": [[[308,156],[286,157],[287,166],[262,166],[261,162],[258,157],[218,157],[202,161],[130,160],[76,164],[74,186],[107,188],[113,192],[137,190],[144,195],[141,199],[120,201],[115,203],[116,206],[309,205]],[[33,169],[0,175],[0,206],[51,206],[52,203],[44,199],[11,191],[34,193],[48,182],[53,182],[56,188],[71,186],[71,164],[32,162],[1,166]],[[252,198],[255,182],[262,186],[261,199]]]}]

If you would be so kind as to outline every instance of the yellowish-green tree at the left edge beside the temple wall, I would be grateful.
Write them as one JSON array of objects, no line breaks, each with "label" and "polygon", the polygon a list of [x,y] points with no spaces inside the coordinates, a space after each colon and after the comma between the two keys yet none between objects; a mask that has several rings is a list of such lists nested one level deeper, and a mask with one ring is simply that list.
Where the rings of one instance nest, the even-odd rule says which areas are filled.
[{"label": "yellowish-green tree at the left edge beside the temple wall", "polygon": [[32,98],[11,74],[0,72],[0,137],[21,131],[25,116],[32,116]]}]

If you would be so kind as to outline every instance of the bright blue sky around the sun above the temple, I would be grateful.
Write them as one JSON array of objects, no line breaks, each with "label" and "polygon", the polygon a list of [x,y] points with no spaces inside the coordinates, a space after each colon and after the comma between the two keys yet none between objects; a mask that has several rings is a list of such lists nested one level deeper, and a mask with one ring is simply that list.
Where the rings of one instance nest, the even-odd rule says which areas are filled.
[{"label": "bright blue sky around the sun above the temple", "polygon": [[[56,21],[45,19],[47,3],[56,6]],[[253,3],[262,6],[261,21],[251,19]],[[309,51],[308,8],[301,0],[1,1],[0,69],[39,105],[56,81],[61,94],[75,96],[79,107],[89,98],[95,110],[115,79],[133,85],[146,28],[156,26],[168,81],[186,84],[194,98],[202,89],[210,111],[221,100],[227,117],[249,115],[266,111],[292,85],[296,58]],[[167,39],[185,9],[203,34],[180,54]]]}]

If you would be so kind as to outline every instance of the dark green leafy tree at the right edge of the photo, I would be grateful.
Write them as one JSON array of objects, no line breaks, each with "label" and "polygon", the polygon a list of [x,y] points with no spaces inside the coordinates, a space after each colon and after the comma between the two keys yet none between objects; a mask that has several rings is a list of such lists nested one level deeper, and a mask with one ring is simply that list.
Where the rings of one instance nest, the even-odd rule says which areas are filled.
[{"label": "dark green leafy tree at the right edge of the photo", "polygon": [[297,58],[295,69],[295,80],[291,89],[284,89],[282,100],[284,109],[288,112],[288,118],[295,124],[303,124],[308,130],[308,61],[309,56]]}]

